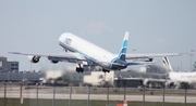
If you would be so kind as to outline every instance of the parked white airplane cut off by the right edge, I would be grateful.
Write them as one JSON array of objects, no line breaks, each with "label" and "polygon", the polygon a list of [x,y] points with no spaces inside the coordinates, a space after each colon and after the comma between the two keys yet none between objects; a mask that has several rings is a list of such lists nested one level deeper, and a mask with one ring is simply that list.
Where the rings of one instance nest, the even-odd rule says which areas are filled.
[{"label": "parked white airplane cut off by the right edge", "polygon": [[191,72],[176,72],[173,71],[168,57],[163,57],[163,65],[168,70],[168,79],[166,87],[168,88],[194,88],[196,83],[196,71]]}]

